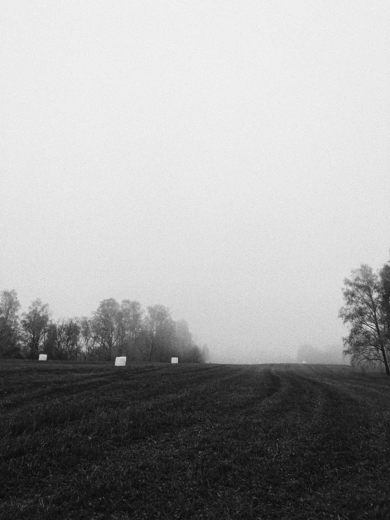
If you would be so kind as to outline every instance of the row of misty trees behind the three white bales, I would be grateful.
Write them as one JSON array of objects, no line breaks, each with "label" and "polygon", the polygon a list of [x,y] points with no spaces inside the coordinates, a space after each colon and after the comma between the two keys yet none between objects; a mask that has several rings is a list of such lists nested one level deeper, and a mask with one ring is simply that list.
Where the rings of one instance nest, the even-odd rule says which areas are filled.
[{"label": "row of misty trees behind the three white bales", "polygon": [[147,307],[114,298],[101,301],[92,317],[51,319],[47,303],[37,299],[19,316],[15,290],[0,295],[0,357],[37,360],[111,361],[125,355],[130,361],[201,363],[208,348],[194,343],[184,319],[175,321],[164,305]]}]

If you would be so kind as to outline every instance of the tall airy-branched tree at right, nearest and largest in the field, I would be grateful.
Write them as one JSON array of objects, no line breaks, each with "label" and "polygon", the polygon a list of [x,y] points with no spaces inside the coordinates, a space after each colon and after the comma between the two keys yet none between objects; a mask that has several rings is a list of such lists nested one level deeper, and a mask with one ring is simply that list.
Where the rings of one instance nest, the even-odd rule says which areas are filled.
[{"label": "tall airy-branched tree at right, nearest and largest in the field", "polygon": [[[382,279],[383,281],[383,279]],[[351,279],[344,279],[344,307],[339,317],[351,329],[345,338],[344,354],[351,355],[352,364],[383,363],[390,375],[389,329],[386,316],[384,285],[368,265],[352,271]]]}]

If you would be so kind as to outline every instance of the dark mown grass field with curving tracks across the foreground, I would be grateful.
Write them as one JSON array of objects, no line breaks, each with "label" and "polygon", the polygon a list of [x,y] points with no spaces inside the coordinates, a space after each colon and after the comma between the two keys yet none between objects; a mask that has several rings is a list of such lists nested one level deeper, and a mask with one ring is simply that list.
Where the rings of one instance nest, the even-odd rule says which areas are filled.
[{"label": "dark mown grass field with curving tracks across the foreground", "polygon": [[0,519],[389,519],[390,381],[0,361]]}]

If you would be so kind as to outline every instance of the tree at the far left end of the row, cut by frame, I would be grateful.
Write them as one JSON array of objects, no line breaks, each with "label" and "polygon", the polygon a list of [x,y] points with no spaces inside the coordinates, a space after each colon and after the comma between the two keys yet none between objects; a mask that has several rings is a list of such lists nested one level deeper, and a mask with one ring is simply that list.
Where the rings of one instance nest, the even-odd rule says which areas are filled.
[{"label": "tree at the far left end of the row, cut by frame", "polygon": [[12,291],[0,293],[0,357],[22,357],[19,340],[20,303],[18,295]]}]

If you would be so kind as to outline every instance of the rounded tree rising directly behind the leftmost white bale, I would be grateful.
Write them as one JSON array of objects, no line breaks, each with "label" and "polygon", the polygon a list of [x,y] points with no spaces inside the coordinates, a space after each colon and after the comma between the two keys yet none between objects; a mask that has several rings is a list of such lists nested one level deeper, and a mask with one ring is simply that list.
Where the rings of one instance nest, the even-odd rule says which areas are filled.
[{"label": "rounded tree rising directly behind the leftmost white bale", "polygon": [[49,305],[37,299],[23,312],[22,327],[23,348],[27,357],[37,359],[40,349],[44,347],[44,338],[49,329]]}]

